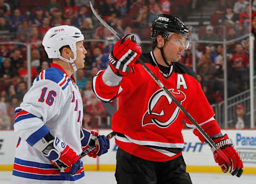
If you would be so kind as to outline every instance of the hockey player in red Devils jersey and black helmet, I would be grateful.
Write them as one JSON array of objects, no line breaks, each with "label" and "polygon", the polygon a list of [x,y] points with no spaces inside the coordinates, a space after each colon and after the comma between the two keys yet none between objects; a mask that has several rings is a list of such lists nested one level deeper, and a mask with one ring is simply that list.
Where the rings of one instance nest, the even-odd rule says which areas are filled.
[{"label": "hockey player in red Devils jersey and black helmet", "polygon": [[95,95],[105,102],[117,98],[118,111],[112,129],[118,145],[115,177],[118,184],[192,183],[182,157],[182,120],[202,141],[205,138],[172,102],[137,61],[146,63],[186,111],[230,159],[228,165],[213,150],[223,172],[240,177],[243,162],[231,139],[222,135],[196,73],[179,63],[189,45],[186,25],[171,15],[161,14],[153,22],[153,51],[141,54],[132,35],[117,41],[109,55],[109,66],[93,78]]}]

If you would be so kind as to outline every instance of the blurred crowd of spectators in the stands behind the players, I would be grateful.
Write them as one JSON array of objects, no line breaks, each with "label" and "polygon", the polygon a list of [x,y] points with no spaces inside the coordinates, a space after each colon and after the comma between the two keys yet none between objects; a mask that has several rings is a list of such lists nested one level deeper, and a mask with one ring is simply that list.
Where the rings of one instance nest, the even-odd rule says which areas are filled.
[{"label": "blurred crowd of spectators in the stands behind the players", "polygon": [[[189,26],[191,40],[232,40],[256,32],[256,0],[217,0],[210,25]],[[143,51],[150,51],[150,27],[158,14],[167,13],[185,20],[206,0],[91,0],[95,10],[119,35],[135,35]],[[215,1],[214,1],[215,2]],[[252,27],[250,27],[250,18]],[[0,129],[12,129],[14,109],[27,91],[27,45],[31,44],[31,81],[50,67],[42,39],[53,26],[76,26],[84,34],[87,50],[85,69],[76,73],[84,103],[83,126],[110,128],[110,114],[92,92],[92,78],[105,69],[116,39],[92,15],[89,0],[0,0]],[[224,29],[225,26],[225,29]],[[224,34],[223,34],[224,31]],[[193,66],[191,47],[181,62]],[[249,88],[249,39],[227,44],[229,96]],[[211,104],[223,100],[223,45],[209,42],[196,45],[196,71]],[[113,103],[114,106],[116,102]]]}]

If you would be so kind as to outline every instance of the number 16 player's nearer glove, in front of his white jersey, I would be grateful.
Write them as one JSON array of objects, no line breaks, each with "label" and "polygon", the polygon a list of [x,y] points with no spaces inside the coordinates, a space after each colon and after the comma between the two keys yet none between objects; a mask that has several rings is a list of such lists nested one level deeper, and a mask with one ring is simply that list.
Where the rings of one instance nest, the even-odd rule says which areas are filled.
[{"label": "number 16 player's nearer glove, in front of his white jersey", "polygon": [[64,172],[69,172],[72,165],[79,160],[79,156],[74,150],[58,137],[55,137],[54,140],[50,141],[49,145],[42,153],[53,163],[53,165],[58,166],[59,169],[65,168],[63,170]]}]

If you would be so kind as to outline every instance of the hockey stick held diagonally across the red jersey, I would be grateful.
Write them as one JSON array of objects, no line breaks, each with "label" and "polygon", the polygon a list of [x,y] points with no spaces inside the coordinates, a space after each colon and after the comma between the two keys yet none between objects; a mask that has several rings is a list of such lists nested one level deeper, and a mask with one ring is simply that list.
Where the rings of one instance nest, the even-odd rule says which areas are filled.
[{"label": "hockey stick held diagonally across the red jersey", "polygon": [[[117,37],[119,40],[122,40],[122,37],[117,34],[117,32],[111,28],[104,20],[101,19],[101,17],[97,14],[97,12],[94,10],[92,3],[90,2],[91,10],[93,14],[97,17],[97,19],[105,26],[115,37]],[[225,153],[222,152],[221,149],[219,149],[214,141],[207,135],[207,133],[199,126],[199,124],[193,119],[193,117],[185,110],[185,108],[177,101],[177,99],[170,93],[170,91],[163,85],[163,83],[155,76],[155,74],[148,68],[148,66],[140,59],[138,58],[139,63],[143,66],[143,68],[148,72],[148,74],[153,78],[156,83],[165,91],[166,95],[169,96],[172,101],[180,108],[180,110],[188,117],[188,119],[196,126],[196,129],[204,136],[204,138],[208,141],[208,143],[211,145],[212,148],[215,148],[217,153],[225,160],[225,162],[228,163],[228,165],[231,167],[231,161],[229,158],[225,155]]]}]

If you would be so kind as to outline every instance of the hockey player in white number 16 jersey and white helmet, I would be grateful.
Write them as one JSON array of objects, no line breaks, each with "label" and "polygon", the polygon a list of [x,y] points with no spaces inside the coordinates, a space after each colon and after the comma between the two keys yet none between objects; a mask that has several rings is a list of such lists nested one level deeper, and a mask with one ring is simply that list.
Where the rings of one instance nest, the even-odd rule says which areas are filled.
[{"label": "hockey player in white number 16 jersey and white helmet", "polygon": [[16,148],[12,183],[86,183],[84,148],[96,146],[89,156],[108,152],[109,140],[81,129],[83,103],[73,77],[84,68],[84,36],[72,26],[49,29],[43,46],[51,68],[43,70],[15,109]]}]

